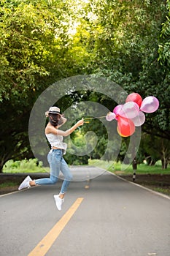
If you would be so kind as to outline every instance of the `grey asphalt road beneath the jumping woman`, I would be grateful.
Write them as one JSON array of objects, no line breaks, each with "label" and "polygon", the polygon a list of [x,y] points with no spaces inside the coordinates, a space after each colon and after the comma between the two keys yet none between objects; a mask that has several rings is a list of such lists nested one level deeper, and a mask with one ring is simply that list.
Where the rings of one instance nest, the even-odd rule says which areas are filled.
[{"label": "grey asphalt road beneath the jumping woman", "polygon": [[[101,169],[72,171],[79,181],[71,183],[62,211],[53,199],[61,181],[0,197],[1,256],[170,255],[169,198]],[[81,203],[76,209],[77,198]],[[69,211],[74,212],[66,222]],[[48,249],[34,252],[39,242],[39,250]]]}]

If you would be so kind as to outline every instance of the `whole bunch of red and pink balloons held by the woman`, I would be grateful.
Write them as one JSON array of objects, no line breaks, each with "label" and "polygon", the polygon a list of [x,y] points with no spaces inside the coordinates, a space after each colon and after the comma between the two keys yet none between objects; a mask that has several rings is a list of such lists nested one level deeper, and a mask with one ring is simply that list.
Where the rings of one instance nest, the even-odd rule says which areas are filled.
[{"label": "whole bunch of red and pink balloons held by the woman", "polygon": [[122,137],[133,135],[135,127],[144,124],[144,113],[153,113],[159,107],[158,99],[149,96],[142,100],[137,93],[129,94],[125,104],[117,105],[112,112],[107,113],[107,121],[117,120],[117,132]]}]

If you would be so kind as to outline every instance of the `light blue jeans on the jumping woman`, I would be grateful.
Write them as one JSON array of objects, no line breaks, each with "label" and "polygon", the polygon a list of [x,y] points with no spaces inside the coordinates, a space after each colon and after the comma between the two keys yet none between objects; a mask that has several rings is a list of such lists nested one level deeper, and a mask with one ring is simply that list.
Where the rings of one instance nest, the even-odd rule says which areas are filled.
[{"label": "light blue jeans on the jumping woman", "polygon": [[52,185],[58,181],[59,173],[63,173],[64,180],[61,186],[60,194],[64,194],[69,187],[69,183],[72,180],[72,173],[69,170],[69,166],[63,159],[62,149],[53,149],[47,155],[47,160],[50,164],[50,178],[39,178],[35,180],[37,185]]}]

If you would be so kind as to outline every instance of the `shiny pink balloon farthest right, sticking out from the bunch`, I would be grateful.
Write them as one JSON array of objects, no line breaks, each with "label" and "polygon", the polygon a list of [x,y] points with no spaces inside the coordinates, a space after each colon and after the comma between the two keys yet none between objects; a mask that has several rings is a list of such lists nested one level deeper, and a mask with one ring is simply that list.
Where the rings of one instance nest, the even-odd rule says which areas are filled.
[{"label": "shiny pink balloon farthest right, sticking out from the bunch", "polygon": [[140,110],[142,110],[145,113],[153,113],[156,110],[158,110],[159,107],[159,101],[154,96],[148,96],[144,98],[142,101],[142,105]]}]

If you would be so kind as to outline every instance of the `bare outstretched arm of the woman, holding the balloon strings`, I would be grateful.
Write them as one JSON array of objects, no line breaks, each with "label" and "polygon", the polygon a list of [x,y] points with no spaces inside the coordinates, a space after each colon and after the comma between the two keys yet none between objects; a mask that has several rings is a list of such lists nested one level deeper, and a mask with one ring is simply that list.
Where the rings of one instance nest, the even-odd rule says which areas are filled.
[{"label": "bare outstretched arm of the woman, holding the balloon strings", "polygon": [[66,131],[62,131],[61,129],[55,129],[55,127],[53,127],[50,124],[47,124],[47,127],[45,128],[45,133],[53,133],[55,135],[61,135],[63,137],[66,137],[68,135],[70,135],[72,132],[74,132],[75,129],[77,129],[77,127],[80,127],[84,124],[84,120],[83,118],[80,121],[77,121],[76,124],[74,124],[73,127],[71,127],[70,129],[67,129]]}]

